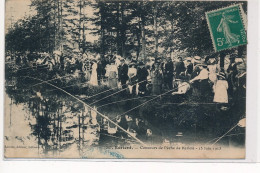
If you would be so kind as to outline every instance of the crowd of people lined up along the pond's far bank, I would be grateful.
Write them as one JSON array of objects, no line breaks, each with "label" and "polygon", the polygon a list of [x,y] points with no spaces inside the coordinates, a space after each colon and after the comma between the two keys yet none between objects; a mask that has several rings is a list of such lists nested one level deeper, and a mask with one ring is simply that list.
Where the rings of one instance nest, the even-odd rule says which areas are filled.
[{"label": "crowd of people lined up along the pond's far bank", "polygon": [[[207,56],[195,57],[159,57],[149,58],[145,63],[124,59],[118,55],[87,55],[74,51],[72,56],[64,56],[60,51],[48,53],[16,55],[17,65],[30,64],[48,73],[63,71],[78,73],[90,85],[107,85],[113,89],[122,89],[130,95],[160,95],[172,91],[172,95],[192,94],[205,101],[213,97],[213,102],[228,103],[239,85],[236,55],[230,55],[227,69],[221,68],[219,58]],[[243,86],[245,88],[245,81]]]}]

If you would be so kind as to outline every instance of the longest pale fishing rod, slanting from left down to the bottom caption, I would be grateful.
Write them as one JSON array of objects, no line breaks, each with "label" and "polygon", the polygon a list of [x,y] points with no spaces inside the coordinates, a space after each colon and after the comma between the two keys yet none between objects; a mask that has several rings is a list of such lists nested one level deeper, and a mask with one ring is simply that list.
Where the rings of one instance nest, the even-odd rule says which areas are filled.
[{"label": "longest pale fishing rod, slanting from left down to the bottom caption", "polygon": [[[35,77],[30,77],[30,76],[25,76],[26,78],[32,78],[32,79],[35,79],[35,80],[39,80],[41,82],[45,82],[41,79],[38,79],[38,78],[35,78]],[[105,118],[106,120],[108,120],[110,123],[114,124],[115,126],[117,126],[119,129],[121,129],[123,132],[127,133],[129,136],[131,136],[133,139],[135,139],[136,141],[138,141],[140,144],[142,145],[145,145],[146,144],[144,142],[142,142],[140,139],[136,138],[135,136],[133,136],[131,133],[129,133],[128,131],[126,131],[124,128],[122,128],[120,125],[118,125],[117,123],[115,123],[114,121],[112,121],[110,118],[108,118],[106,115],[100,113],[99,111],[97,111],[96,109],[94,109],[93,107],[91,107],[90,105],[86,104],[84,101],[82,101],[81,99],[75,97],[74,95],[70,94],[69,92],[57,87],[56,85],[53,85],[49,82],[45,82],[46,84],[54,87],[54,88],[57,88],[59,89],[60,91],[63,91],[64,93],[66,93],[67,95],[71,96],[72,98],[74,98],[75,100],[77,100],[78,102],[82,103],[83,105],[85,105],[86,107],[88,107],[89,109],[95,111],[97,114],[99,114],[101,117]]]}]

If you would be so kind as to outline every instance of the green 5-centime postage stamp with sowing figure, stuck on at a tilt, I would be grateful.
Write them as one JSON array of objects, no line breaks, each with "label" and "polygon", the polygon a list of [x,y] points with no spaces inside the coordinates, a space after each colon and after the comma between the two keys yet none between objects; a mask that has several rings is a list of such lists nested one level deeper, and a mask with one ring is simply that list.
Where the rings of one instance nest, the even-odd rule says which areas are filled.
[{"label": "green 5-centime postage stamp with sowing figure, stuck on at a tilt", "polygon": [[247,43],[239,4],[206,12],[206,18],[215,51]]}]

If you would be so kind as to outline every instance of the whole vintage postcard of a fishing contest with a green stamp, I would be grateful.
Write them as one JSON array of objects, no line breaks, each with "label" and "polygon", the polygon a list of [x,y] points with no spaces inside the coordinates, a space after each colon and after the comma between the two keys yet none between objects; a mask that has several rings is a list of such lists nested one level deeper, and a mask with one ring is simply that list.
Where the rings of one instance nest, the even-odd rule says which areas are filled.
[{"label": "whole vintage postcard of a fishing contest with a green stamp", "polygon": [[5,4],[5,158],[245,158],[247,1]]}]

